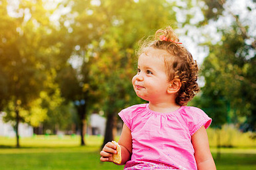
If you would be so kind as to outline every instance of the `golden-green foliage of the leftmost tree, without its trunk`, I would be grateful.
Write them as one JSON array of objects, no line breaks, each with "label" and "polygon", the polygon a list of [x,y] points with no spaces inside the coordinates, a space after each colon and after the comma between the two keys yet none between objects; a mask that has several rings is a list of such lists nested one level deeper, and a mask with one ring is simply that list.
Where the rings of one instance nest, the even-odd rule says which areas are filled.
[{"label": "golden-green foliage of the leftmost tree, without its trunk", "polygon": [[[45,81],[44,75],[45,65],[42,64],[42,59],[48,52],[46,46],[42,44],[48,37],[47,26],[39,26],[41,22],[49,24],[49,19],[45,14],[40,4],[35,5],[30,1],[19,1],[19,7],[13,7],[13,15],[10,17],[6,11],[8,3],[1,5],[1,22],[0,33],[0,75],[1,85],[5,93],[1,95],[2,109],[7,105],[13,105],[13,111],[21,116],[22,121],[26,119],[22,116],[26,115],[26,111],[22,111],[19,115],[19,110],[27,110],[31,102],[39,97],[40,91],[44,89],[42,82]],[[37,10],[37,15],[32,11]],[[25,11],[30,11],[31,16]],[[22,15],[19,15],[22,14]],[[37,17],[40,15],[40,19]],[[25,19],[26,18],[26,19]],[[29,33],[28,33],[29,32]],[[2,89],[2,88],[1,88]],[[34,105],[38,103],[34,102]],[[44,111],[43,111],[44,112]],[[9,112],[7,112],[9,114]],[[16,116],[9,115],[11,120]]]}]

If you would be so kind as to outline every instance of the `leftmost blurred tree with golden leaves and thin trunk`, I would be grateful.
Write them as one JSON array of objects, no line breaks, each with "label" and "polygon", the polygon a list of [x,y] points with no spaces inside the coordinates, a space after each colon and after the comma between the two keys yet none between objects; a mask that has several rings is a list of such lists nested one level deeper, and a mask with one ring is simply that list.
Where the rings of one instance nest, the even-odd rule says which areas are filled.
[{"label": "leftmost blurred tree with golden leaves and thin trunk", "polygon": [[[29,7],[32,4],[26,3],[27,9],[31,10]],[[34,16],[31,17],[30,21],[25,21],[24,12],[21,17],[19,15],[16,18],[10,17],[9,13],[7,13],[7,5],[6,2],[3,2],[1,6],[1,18],[3,19],[1,21],[5,22],[1,24],[1,30],[3,31],[1,31],[0,64],[3,72],[2,77],[6,78],[4,88],[7,89],[8,97],[1,99],[1,101],[4,106],[8,106],[8,103],[13,103],[15,116],[10,117],[16,120],[15,130],[17,132],[17,147],[19,148],[19,122],[24,121],[19,111],[21,108],[26,108],[30,101],[38,97],[42,89],[40,82],[44,80],[44,75],[40,73],[40,69],[42,69],[40,66],[42,65],[38,63],[40,58],[35,60],[38,57],[35,49],[40,50],[41,38],[37,31],[34,31],[36,29],[32,23]],[[21,9],[22,7],[13,12],[21,12]],[[39,33],[40,28],[37,29]],[[30,34],[26,34],[27,31]],[[41,31],[43,32],[44,29]]]}]

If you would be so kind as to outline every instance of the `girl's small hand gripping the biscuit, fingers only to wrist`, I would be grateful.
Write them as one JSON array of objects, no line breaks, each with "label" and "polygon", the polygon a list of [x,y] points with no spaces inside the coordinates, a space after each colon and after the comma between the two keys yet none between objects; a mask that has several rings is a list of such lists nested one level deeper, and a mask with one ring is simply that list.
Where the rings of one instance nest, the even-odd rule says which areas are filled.
[{"label": "girl's small hand gripping the biscuit, fingers only to wrist", "polygon": [[101,151],[101,161],[105,162],[112,162],[112,153],[117,153],[116,151],[116,146],[114,144],[112,144],[112,142],[108,142],[103,150]]}]

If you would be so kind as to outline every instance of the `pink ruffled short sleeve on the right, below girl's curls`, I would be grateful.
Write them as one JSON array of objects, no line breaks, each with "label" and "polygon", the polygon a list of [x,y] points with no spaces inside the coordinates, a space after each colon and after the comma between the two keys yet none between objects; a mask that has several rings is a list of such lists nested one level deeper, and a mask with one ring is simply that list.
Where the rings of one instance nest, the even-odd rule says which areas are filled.
[{"label": "pink ruffled short sleeve on the right, below girl's curls", "polygon": [[203,110],[192,106],[186,107],[186,114],[183,118],[187,120],[191,136],[202,126],[208,128],[212,122],[212,119]]}]

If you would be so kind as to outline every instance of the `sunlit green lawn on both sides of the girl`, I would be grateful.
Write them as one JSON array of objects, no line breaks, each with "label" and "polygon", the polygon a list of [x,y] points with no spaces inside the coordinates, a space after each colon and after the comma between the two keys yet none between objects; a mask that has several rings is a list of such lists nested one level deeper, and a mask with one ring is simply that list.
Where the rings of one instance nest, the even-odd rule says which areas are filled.
[{"label": "sunlit green lawn on both sides of the girl", "polygon": [[[123,166],[99,161],[100,136],[87,136],[87,146],[79,146],[78,136],[36,136],[21,138],[22,148],[15,148],[15,138],[0,137],[1,170],[73,170],[123,169]],[[216,157],[216,148],[211,148]],[[256,148],[222,148],[216,160],[218,170],[256,170]]]}]

